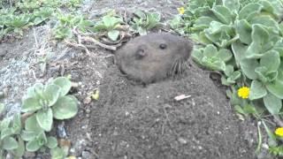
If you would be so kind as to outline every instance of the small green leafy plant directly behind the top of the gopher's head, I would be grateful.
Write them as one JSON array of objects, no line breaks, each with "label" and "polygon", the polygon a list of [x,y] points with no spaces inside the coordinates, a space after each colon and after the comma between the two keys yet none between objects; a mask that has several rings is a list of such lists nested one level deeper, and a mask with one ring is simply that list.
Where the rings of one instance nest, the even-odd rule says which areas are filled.
[{"label": "small green leafy plant directly behind the top of the gopher's head", "polygon": [[134,19],[130,22],[131,30],[138,34],[147,34],[147,32],[160,25],[161,16],[157,12],[136,11]]}]

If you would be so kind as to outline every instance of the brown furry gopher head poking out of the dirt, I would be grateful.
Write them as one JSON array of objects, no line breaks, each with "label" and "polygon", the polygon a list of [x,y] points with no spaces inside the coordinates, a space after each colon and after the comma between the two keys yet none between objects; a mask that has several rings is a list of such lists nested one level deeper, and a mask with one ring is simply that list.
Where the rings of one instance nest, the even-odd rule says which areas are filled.
[{"label": "brown furry gopher head poking out of the dirt", "polygon": [[148,84],[180,72],[193,43],[173,34],[148,34],[134,38],[116,52],[116,62],[128,79]]}]

